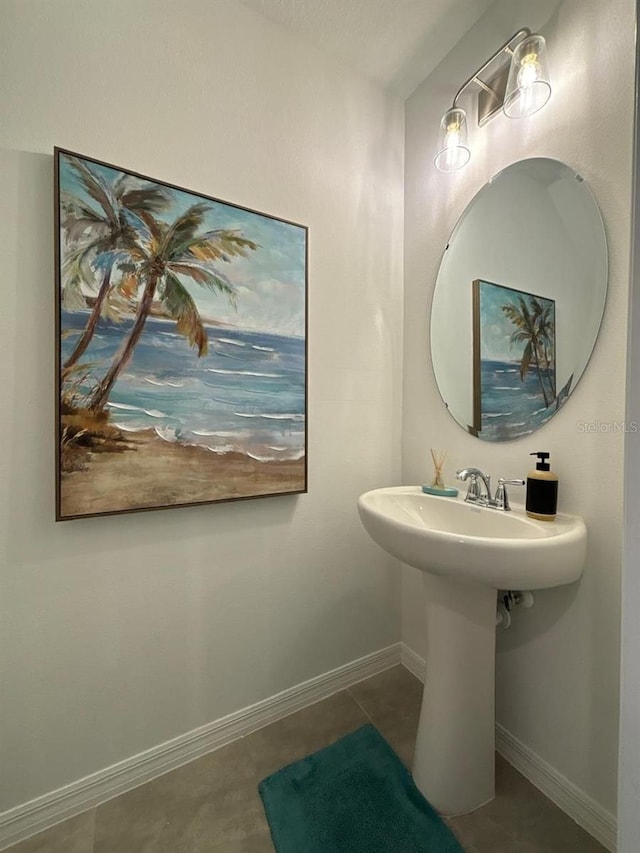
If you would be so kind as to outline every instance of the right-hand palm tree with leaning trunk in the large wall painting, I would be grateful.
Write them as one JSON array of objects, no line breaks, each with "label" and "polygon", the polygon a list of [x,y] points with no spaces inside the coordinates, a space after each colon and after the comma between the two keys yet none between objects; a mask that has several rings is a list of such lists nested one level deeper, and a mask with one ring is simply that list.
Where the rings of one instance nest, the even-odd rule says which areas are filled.
[{"label": "right-hand palm tree with leaning trunk in the large wall painting", "polygon": [[140,213],[144,223],[135,246],[128,246],[116,260],[125,277],[135,277],[142,287],[133,326],[101,382],[93,391],[89,408],[104,408],[118,376],[133,355],[144,330],[154,301],[159,301],[164,314],[176,321],[176,331],[189,344],[206,355],[208,338],[198,308],[181,281],[191,279],[201,287],[226,294],[233,302],[235,288],[214,265],[244,257],[258,244],[237,231],[218,229],[198,233],[209,211],[207,204],[194,204],[172,225],[157,221],[146,212]]}]

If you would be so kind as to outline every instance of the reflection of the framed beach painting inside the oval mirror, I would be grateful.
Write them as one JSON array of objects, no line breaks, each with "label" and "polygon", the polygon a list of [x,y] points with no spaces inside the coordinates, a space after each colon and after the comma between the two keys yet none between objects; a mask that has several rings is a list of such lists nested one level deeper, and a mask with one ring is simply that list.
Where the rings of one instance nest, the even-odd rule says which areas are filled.
[{"label": "reflection of the framed beach painting inside the oval mirror", "polygon": [[556,390],[555,301],[476,279],[472,306],[470,432],[487,441],[529,435],[563,399]]}]

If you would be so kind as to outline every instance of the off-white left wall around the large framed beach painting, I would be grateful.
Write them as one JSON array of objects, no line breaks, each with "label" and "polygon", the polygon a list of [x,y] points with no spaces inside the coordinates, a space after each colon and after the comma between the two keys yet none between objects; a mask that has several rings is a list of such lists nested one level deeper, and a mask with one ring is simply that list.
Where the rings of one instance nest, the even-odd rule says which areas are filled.
[{"label": "off-white left wall around the large framed beach painting", "polygon": [[[3,0],[0,811],[397,642],[402,103],[233,0]],[[54,145],[307,224],[309,494],[54,524]]]}]

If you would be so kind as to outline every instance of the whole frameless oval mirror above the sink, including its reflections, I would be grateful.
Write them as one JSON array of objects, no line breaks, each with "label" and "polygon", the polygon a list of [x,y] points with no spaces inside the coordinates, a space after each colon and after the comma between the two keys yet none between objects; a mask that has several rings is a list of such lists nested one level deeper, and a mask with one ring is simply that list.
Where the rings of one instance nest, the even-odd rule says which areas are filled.
[{"label": "whole frameless oval mirror above the sink, including its reflections", "polygon": [[529,435],[582,376],[607,244],[589,187],[557,160],[508,166],[471,200],[438,271],[431,358],[449,412],[485,441]]}]

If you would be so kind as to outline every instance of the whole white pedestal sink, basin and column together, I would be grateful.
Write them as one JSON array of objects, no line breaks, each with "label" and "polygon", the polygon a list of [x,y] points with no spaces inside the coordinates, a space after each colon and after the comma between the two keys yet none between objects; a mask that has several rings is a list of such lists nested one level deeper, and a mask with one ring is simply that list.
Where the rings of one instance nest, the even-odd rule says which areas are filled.
[{"label": "whole white pedestal sink, basin and column together", "polygon": [[427,675],[413,776],[443,815],[473,811],[495,795],[496,590],[576,581],[587,530],[576,515],[553,522],[427,495],[419,486],[361,495],[374,542],[424,572]]}]

